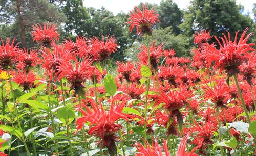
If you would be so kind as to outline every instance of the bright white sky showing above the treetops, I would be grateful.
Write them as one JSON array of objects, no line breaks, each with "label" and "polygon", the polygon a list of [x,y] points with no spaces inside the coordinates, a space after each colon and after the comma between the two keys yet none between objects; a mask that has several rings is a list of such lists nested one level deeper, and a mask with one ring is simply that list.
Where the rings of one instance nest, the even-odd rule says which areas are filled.
[{"label": "bright white sky showing above the treetops", "polygon": [[[96,9],[104,7],[116,15],[121,11],[128,13],[134,6],[139,5],[140,2],[155,3],[159,5],[161,0],[83,0],[83,5],[85,7],[93,7]],[[179,8],[186,9],[189,6],[190,0],[173,0],[173,2],[175,2]],[[250,16],[252,18],[253,3],[256,3],[256,0],[237,0],[237,4],[244,6],[245,13],[248,11],[251,12]]]}]

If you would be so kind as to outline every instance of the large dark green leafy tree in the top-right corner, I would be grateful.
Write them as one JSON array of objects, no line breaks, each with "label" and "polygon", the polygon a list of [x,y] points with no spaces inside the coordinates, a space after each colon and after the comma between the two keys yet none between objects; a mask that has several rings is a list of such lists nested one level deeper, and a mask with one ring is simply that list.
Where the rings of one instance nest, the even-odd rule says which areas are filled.
[{"label": "large dark green leafy tree in the top-right corner", "polygon": [[[226,30],[242,31],[253,25],[252,19],[240,13],[241,7],[235,0],[193,0],[188,11],[184,13],[184,23],[181,28],[186,36],[192,36],[195,31],[207,29],[211,35],[220,36]],[[232,37],[234,33],[231,34]]]}]

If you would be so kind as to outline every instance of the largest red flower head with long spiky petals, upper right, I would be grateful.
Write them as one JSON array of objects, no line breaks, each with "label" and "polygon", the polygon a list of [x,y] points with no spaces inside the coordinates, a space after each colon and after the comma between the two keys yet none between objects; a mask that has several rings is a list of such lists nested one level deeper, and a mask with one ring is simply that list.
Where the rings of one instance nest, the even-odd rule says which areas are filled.
[{"label": "largest red flower head with long spiky petals, upper right", "polygon": [[251,47],[255,45],[254,43],[246,43],[249,37],[253,35],[253,33],[250,33],[245,37],[247,30],[248,28],[243,32],[238,43],[238,32],[236,32],[234,42],[231,41],[229,32],[228,38],[226,35],[224,35],[224,38],[221,37],[223,46],[217,37],[215,37],[220,46],[219,50],[216,49],[214,45],[205,43],[202,55],[206,58],[208,65],[215,61],[214,68],[220,68],[221,71],[224,70],[228,76],[239,73],[239,66],[247,60],[244,55],[247,54],[248,51],[255,51],[255,49]]}]

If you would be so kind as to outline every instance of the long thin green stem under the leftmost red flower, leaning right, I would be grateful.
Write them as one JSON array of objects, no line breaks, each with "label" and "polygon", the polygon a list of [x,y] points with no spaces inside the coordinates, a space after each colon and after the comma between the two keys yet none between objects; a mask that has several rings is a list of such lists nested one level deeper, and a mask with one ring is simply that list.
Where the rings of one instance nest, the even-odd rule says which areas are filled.
[{"label": "long thin green stem under the leftmost red flower, leaning right", "polygon": [[8,77],[9,77],[9,83],[10,83],[10,88],[11,88],[11,92],[12,92],[13,107],[14,107],[15,115],[17,117],[18,128],[19,128],[20,132],[22,133],[21,140],[22,140],[22,142],[24,144],[24,147],[25,147],[25,149],[27,151],[27,154],[29,156],[31,156],[31,154],[29,152],[29,149],[28,149],[28,146],[27,146],[27,144],[25,142],[25,139],[24,139],[24,136],[23,136],[24,133],[23,133],[22,125],[20,124],[20,121],[19,121],[18,109],[17,109],[16,102],[15,102],[15,95],[14,95],[14,91],[13,91],[13,88],[12,88],[11,76],[10,76],[8,67],[6,68],[6,70],[7,70],[7,74],[8,74]]}]

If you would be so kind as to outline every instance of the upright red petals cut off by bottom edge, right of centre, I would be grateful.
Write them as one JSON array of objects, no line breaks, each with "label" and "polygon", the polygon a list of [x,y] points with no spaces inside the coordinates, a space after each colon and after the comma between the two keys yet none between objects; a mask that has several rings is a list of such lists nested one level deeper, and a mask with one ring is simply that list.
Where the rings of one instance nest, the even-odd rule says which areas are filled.
[{"label": "upright red petals cut off by bottom edge, right of centre", "polygon": [[193,148],[190,153],[186,152],[186,143],[187,143],[187,140],[188,140],[188,136],[189,134],[187,134],[185,137],[183,137],[180,141],[180,146],[178,148],[178,151],[177,151],[177,156],[198,156],[198,154],[195,154],[195,150],[197,150],[198,148],[201,147],[201,145],[199,146],[196,146],[195,148]]}]

